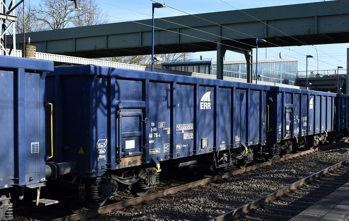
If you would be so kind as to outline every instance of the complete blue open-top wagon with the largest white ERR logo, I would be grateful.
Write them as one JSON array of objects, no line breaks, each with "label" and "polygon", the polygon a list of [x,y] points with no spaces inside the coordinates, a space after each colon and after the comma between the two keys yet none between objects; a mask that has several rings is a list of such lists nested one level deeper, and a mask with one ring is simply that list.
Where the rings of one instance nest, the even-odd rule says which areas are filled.
[{"label": "complete blue open-top wagon with the largest white ERR logo", "polygon": [[86,65],[55,67],[46,88],[53,159],[75,167],[86,206],[120,184],[146,194],[166,163],[243,167],[266,143],[269,86]]}]

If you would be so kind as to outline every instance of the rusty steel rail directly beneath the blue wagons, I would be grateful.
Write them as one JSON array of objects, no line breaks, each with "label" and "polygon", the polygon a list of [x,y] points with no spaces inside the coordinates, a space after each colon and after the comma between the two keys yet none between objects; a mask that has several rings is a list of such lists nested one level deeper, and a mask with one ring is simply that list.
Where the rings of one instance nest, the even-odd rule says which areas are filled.
[{"label": "rusty steel rail directly beneath the blue wagons", "polygon": [[[158,192],[155,192],[155,193],[151,193],[151,194],[147,194],[147,195],[144,195],[144,196],[135,197],[135,198],[131,198],[131,199],[126,199],[126,200],[123,200],[123,201],[120,201],[120,202],[117,202],[117,203],[112,203],[112,204],[109,204],[109,205],[106,205],[106,206],[99,207],[97,209],[86,210],[86,211],[83,211],[83,212],[80,212],[80,213],[75,213],[75,214],[72,214],[72,215],[68,215],[68,216],[64,216],[64,217],[61,217],[61,218],[53,219],[52,221],[75,221],[75,220],[78,220],[78,219],[89,219],[89,218],[92,218],[92,217],[94,217],[94,216],[96,216],[98,214],[106,214],[106,213],[111,212],[112,210],[120,210],[120,209],[126,208],[129,205],[137,205],[137,204],[140,204],[140,203],[142,203],[144,201],[153,200],[155,198],[163,197],[163,196],[166,196],[168,194],[175,194],[178,191],[184,191],[184,190],[187,190],[189,188],[194,188],[194,187],[197,187],[197,186],[200,186],[200,185],[205,185],[205,184],[210,183],[210,182],[221,180],[223,178],[228,178],[228,177],[231,177],[233,175],[241,174],[241,173],[244,173],[244,172],[247,172],[247,171],[252,171],[252,170],[264,167],[264,166],[268,166],[268,165],[272,165],[272,164],[275,164],[275,163],[279,163],[279,162],[285,161],[287,159],[292,159],[292,158],[295,158],[295,157],[298,157],[298,156],[302,156],[302,155],[305,155],[305,154],[308,154],[308,153],[319,151],[321,149],[325,149],[325,148],[328,148],[328,147],[331,147],[331,146],[334,146],[334,145],[342,144],[344,142],[348,142],[348,140],[336,142],[334,144],[325,145],[325,146],[322,146],[322,147],[319,147],[319,148],[315,148],[315,149],[312,149],[312,150],[306,150],[304,152],[292,154],[292,155],[289,155],[289,156],[286,156],[286,157],[283,157],[283,158],[277,158],[277,159],[274,159],[274,160],[269,161],[269,162],[264,162],[264,163],[260,163],[260,164],[257,164],[257,165],[252,165],[252,166],[246,167],[244,169],[239,169],[239,170],[227,172],[227,173],[224,173],[222,175],[215,175],[213,177],[209,177],[209,178],[205,178],[205,179],[202,179],[202,180],[199,180],[199,181],[186,183],[186,184],[183,184],[183,185],[180,185],[180,186],[177,186],[177,187],[172,187],[172,188],[169,188],[169,189],[161,190],[161,191],[158,191]],[[220,216],[218,216],[218,217],[220,217]]]}]

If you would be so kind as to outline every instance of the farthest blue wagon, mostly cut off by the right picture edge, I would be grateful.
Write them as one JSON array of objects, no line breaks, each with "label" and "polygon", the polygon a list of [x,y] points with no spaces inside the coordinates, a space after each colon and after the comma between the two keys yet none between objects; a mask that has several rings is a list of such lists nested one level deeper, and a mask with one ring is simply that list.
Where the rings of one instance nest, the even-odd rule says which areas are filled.
[{"label": "farthest blue wagon, mostly cut off by the right picture edge", "polygon": [[337,94],[335,97],[335,117],[333,139],[348,136],[349,128],[349,95]]}]

